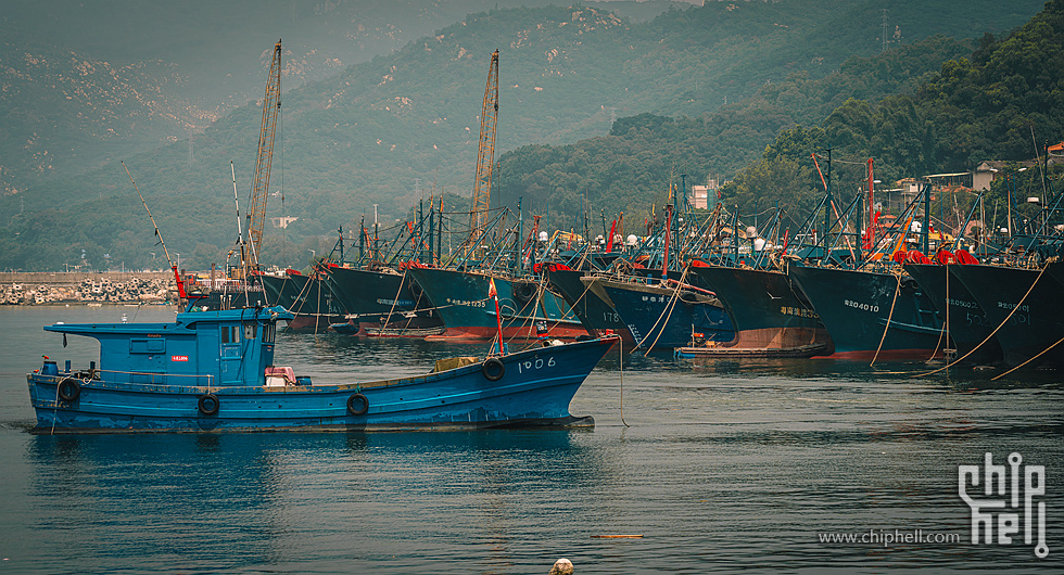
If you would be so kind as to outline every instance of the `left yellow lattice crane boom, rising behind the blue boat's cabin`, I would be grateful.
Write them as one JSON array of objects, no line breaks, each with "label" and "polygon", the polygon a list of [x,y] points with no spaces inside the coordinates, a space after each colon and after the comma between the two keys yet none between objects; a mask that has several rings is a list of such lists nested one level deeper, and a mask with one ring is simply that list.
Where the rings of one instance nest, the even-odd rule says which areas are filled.
[{"label": "left yellow lattice crane boom, rising behind the blue boat's cabin", "polygon": [[259,246],[266,223],[266,197],[269,188],[269,168],[274,162],[274,136],[277,116],[281,110],[281,41],[274,46],[274,59],[266,78],[266,95],[263,98],[263,129],[258,136],[258,162],[255,166],[255,186],[251,191],[251,208],[248,212],[248,237],[251,240],[252,269],[258,268]]}]

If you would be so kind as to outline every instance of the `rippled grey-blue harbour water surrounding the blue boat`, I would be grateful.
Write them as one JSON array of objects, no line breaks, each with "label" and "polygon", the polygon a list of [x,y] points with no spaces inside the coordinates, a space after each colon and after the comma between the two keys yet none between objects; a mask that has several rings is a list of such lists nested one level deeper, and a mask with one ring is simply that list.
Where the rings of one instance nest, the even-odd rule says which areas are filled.
[{"label": "rippled grey-blue harbour water surrounding the blue boat", "polygon": [[[621,371],[613,356],[571,405],[595,417],[591,431],[30,435],[25,373],[41,355],[84,367],[98,353],[73,336],[64,349],[41,325],[123,315],[174,317],[0,308],[2,572],[546,574],[561,557],[581,575],[1064,566],[1059,372],[990,382],[914,378],[923,363],[668,355]],[[280,334],[278,347],[278,365],[319,381],[483,354],[313,334]],[[971,544],[958,465],[1013,451],[1046,468],[1046,559],[1023,523],[1011,546]],[[915,529],[961,542],[819,537]]]}]

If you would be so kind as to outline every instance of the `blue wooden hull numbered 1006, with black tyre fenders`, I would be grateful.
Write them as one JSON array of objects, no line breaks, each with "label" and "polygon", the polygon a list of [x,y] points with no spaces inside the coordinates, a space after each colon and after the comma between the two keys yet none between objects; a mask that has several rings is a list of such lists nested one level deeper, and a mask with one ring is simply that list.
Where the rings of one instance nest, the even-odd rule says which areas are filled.
[{"label": "blue wooden hull numbered 1006, with black tyre fenders", "polygon": [[[569,403],[617,338],[529,349],[501,358],[502,376],[481,362],[427,375],[329,385],[200,386],[87,379],[85,373],[30,373],[37,411],[34,433],[220,432],[266,430],[474,429],[521,425],[593,425],[574,418]],[[486,373],[485,373],[486,372]],[[60,398],[72,376],[78,393]],[[69,386],[71,384],[66,384]],[[65,389],[68,392],[69,389]],[[204,413],[201,398],[217,400]],[[365,398],[349,407],[352,396]],[[65,394],[67,397],[69,393]],[[208,409],[205,411],[210,412]],[[353,412],[362,411],[362,414]]]}]

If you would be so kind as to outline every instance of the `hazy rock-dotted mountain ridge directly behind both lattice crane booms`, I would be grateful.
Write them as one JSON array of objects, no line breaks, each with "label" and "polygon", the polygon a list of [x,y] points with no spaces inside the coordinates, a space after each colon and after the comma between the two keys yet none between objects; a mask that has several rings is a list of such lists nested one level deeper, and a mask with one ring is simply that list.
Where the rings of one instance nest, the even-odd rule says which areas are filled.
[{"label": "hazy rock-dotted mountain ridge directly behind both lattice crane booms", "polygon": [[[701,118],[719,108],[726,114],[725,99],[740,101],[795,74],[824,78],[852,56],[872,56],[935,34],[1000,34],[1039,8],[1030,1],[1006,7],[981,0],[897,1],[884,13],[875,2],[790,0],[708,3],[647,22],[588,4],[472,14],[388,55],[286,91],[270,184],[277,195],[267,213],[299,217],[283,238],[300,242],[339,225],[350,227],[371,214],[373,204],[385,217],[402,215],[419,197],[415,178],[425,194],[468,193],[487,64],[496,48],[502,54],[498,157],[528,144],[600,137],[625,116]],[[263,40],[259,49],[274,41]],[[810,114],[801,98],[785,97],[790,115]],[[810,105],[825,105],[813,100]],[[235,238],[227,164],[235,162],[245,196],[261,119],[261,110],[241,106],[185,141],[126,157],[156,219],[166,223],[161,228],[168,244],[203,257],[224,254]],[[734,119],[731,137],[743,153],[763,148],[793,122],[756,113]],[[744,127],[747,119],[759,127]],[[3,223],[21,233],[8,243],[0,265],[54,267],[69,259],[67,246],[75,244],[142,261],[152,232],[145,217],[127,209],[142,207],[117,159],[77,180],[41,182],[0,201],[9,215]],[[46,241],[55,250],[33,243]]]}]

